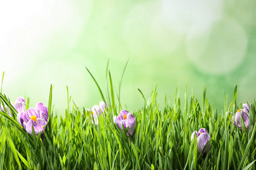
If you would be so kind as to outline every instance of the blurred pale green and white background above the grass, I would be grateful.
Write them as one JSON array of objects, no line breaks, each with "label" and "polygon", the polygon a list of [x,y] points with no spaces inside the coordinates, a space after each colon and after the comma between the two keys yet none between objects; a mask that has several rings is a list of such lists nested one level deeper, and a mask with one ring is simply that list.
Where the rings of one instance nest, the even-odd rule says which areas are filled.
[{"label": "blurred pale green and white background above the grass", "polygon": [[[105,89],[106,63],[114,88],[125,62],[121,103],[133,111],[158,84],[158,101],[173,101],[179,84],[182,105],[187,82],[202,102],[203,86],[214,107],[223,109],[223,90],[238,101],[256,96],[256,1],[1,1],[0,71],[3,93],[30,106],[91,108],[101,100],[93,79]],[[104,90],[104,94],[106,91]]]}]

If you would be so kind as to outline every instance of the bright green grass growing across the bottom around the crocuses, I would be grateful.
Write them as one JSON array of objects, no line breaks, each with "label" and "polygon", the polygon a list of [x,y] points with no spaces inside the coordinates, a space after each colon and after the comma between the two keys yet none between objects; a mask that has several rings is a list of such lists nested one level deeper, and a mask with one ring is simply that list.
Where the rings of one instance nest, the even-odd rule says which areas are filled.
[{"label": "bright green grass growing across the bottom around the crocuses", "polygon": [[[51,86],[47,129],[41,137],[30,135],[16,122],[17,112],[8,97],[0,93],[1,103],[8,105],[12,113],[10,117],[6,111],[0,111],[0,169],[255,169],[255,101],[249,103],[250,130],[238,129],[231,122],[232,114],[226,114],[242,107],[242,103],[236,101],[237,86],[232,103],[227,103],[224,95],[223,110],[216,110],[209,103],[206,88],[199,99],[185,93],[182,104],[179,87],[173,104],[166,100],[163,108],[157,101],[157,88],[148,100],[138,89],[144,105],[129,110],[120,103],[125,69],[115,92],[107,65],[107,96],[103,95],[89,69],[87,71],[102,100],[108,104],[106,117],[99,118],[98,126],[91,122],[91,114],[85,112],[90,106],[72,105],[69,94],[64,117],[58,118],[52,108]],[[136,117],[135,134],[131,139],[113,122],[121,109],[129,110]],[[190,141],[192,132],[202,127],[211,136],[211,148],[205,159],[198,153],[196,139]]]}]

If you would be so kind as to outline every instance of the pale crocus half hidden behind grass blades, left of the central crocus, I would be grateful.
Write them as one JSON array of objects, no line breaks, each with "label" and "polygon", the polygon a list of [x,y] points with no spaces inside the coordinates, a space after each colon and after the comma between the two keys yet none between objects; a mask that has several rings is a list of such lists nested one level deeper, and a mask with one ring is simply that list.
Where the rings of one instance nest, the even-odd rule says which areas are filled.
[{"label": "pale crocus half hidden behind grass blades, left of the central crocus", "polygon": [[89,111],[91,115],[91,122],[93,123],[93,119],[96,125],[98,125],[98,116],[104,116],[104,111],[108,109],[106,103],[104,101],[100,101],[100,105],[94,105],[91,110],[85,109],[86,111]]}]

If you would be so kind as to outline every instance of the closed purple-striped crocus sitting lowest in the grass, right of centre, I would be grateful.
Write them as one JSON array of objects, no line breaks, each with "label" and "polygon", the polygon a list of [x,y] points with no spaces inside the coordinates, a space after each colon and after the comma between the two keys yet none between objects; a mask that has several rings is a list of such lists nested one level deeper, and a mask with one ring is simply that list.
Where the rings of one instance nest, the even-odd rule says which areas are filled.
[{"label": "closed purple-striped crocus sitting lowest in the grass, right of centre", "polygon": [[[202,128],[199,129],[199,131],[194,131],[191,135],[191,141],[194,139],[194,135],[196,133],[196,137],[198,138],[198,152],[201,153],[203,151],[203,148],[205,147],[205,144],[209,141],[211,138],[209,135],[209,132],[207,129]],[[204,156],[209,151],[209,148],[211,146],[211,143],[207,145],[207,148],[203,151],[202,155]]]}]

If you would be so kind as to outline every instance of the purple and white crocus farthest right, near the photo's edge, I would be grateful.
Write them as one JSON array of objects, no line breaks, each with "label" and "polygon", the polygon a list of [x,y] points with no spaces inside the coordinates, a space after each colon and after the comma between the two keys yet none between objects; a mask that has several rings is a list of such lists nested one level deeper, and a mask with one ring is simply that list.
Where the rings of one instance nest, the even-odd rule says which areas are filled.
[{"label": "purple and white crocus farthest right, near the photo's edge", "polygon": [[[244,109],[238,109],[238,111],[235,114],[235,120],[234,120],[234,126],[242,129],[242,122],[241,122],[241,116],[242,119],[244,120],[244,125],[245,128],[247,129],[250,126],[250,121],[249,121],[249,110],[250,106],[247,103],[243,104]],[[232,116],[233,121],[234,116]]]}]

